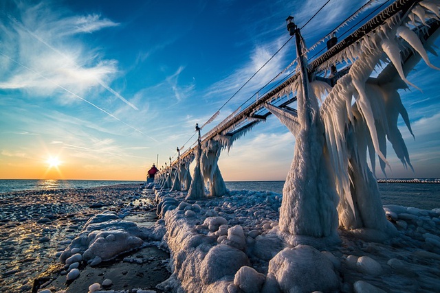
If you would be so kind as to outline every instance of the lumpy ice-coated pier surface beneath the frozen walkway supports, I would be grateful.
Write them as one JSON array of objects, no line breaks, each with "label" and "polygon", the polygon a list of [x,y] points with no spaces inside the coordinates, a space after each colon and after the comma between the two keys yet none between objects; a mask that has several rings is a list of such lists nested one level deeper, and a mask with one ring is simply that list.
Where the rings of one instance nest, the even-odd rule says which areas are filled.
[{"label": "lumpy ice-coated pier surface beneath the frozen walkway supports", "polygon": [[397,237],[369,242],[374,231],[339,229],[341,244],[317,250],[287,244],[286,235],[278,229],[279,194],[230,191],[228,196],[195,202],[186,201],[184,192],[155,189],[155,193],[159,203],[174,199],[172,206],[162,204],[166,211],[157,210],[164,218],[162,245],[170,250],[173,273],[159,286],[163,290],[414,292],[440,288],[439,209],[384,206],[388,221],[399,231]]}]

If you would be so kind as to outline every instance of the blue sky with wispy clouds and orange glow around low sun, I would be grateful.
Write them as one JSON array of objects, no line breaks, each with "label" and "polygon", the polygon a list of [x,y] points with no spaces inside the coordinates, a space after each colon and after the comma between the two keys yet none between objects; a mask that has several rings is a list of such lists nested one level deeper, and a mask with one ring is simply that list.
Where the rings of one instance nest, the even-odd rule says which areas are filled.
[{"label": "blue sky with wispy clouds and orange glow around low sun", "polygon": [[[302,26],[325,2],[0,1],[0,178],[144,180],[157,157],[162,167],[195,143],[195,124],[289,40],[287,16]],[[331,0],[301,31],[306,44],[363,3]],[[202,135],[295,55],[291,41]],[[399,128],[415,172],[389,147],[387,174],[440,178],[440,73],[420,62],[408,79],[423,91],[401,92],[415,141],[401,120]],[[294,141],[269,117],[222,152],[223,178],[284,180]]]}]

